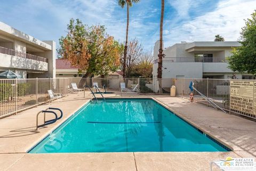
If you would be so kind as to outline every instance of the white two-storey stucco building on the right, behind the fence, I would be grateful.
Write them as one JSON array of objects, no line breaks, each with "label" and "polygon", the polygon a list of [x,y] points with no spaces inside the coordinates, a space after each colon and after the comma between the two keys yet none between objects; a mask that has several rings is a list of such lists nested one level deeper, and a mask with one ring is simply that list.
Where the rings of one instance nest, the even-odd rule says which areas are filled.
[{"label": "white two-storey stucco building on the right, behind the fence", "polygon": [[[253,79],[252,75],[233,72],[227,56],[238,42],[181,42],[164,49],[163,78],[237,78]],[[153,78],[157,78],[159,41],[154,46]]]}]

